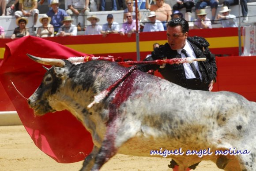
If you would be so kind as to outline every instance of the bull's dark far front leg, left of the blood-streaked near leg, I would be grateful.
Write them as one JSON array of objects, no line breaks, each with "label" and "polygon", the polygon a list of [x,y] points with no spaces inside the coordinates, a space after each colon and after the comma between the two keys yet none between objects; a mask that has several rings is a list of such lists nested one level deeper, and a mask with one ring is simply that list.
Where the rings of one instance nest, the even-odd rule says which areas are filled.
[{"label": "bull's dark far front leg, left of the blood-streaked near leg", "polygon": [[83,161],[83,167],[80,171],[90,171],[95,163],[95,156],[98,153],[99,148],[97,146],[93,147],[92,152]]}]

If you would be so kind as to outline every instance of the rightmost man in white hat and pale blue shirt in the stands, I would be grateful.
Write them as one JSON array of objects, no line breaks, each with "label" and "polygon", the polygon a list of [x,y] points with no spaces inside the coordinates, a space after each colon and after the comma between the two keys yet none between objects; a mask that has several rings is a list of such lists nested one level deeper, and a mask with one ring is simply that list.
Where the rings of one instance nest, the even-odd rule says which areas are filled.
[{"label": "rightmost man in white hat and pale blue shirt in the stands", "polygon": [[223,27],[237,27],[237,18],[235,15],[230,14],[230,9],[227,6],[222,7],[222,11],[219,11],[217,19]]}]

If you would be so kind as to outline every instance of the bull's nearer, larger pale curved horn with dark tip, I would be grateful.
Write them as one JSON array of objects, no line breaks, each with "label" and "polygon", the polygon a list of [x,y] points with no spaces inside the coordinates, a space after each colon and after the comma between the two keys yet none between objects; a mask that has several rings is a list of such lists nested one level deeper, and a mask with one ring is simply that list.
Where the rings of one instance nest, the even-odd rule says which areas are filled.
[{"label": "bull's nearer, larger pale curved horn with dark tip", "polygon": [[30,59],[34,60],[35,62],[44,64],[44,65],[53,65],[58,67],[63,67],[65,65],[65,62],[61,59],[54,59],[54,58],[40,58],[36,57],[30,54],[26,54]]}]

